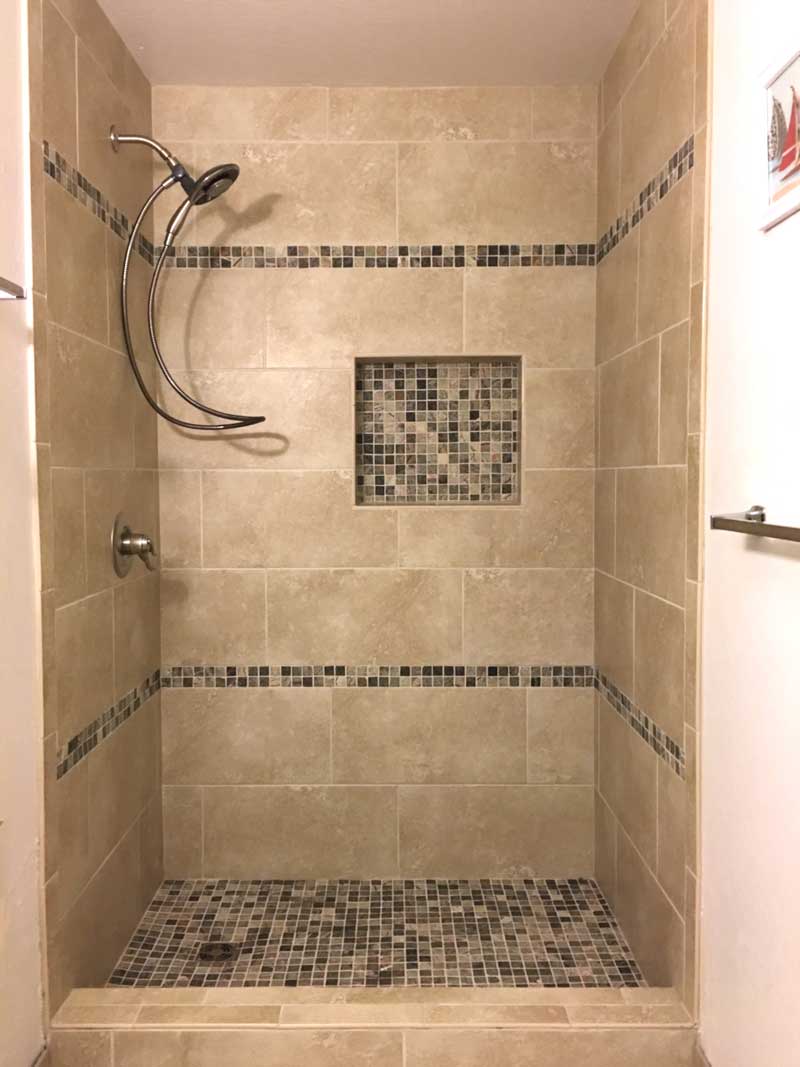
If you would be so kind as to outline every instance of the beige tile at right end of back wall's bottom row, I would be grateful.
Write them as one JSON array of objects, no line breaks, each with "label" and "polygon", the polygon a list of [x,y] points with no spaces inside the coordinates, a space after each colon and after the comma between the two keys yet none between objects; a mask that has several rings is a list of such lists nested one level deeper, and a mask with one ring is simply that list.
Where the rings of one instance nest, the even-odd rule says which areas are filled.
[{"label": "beige tile at right end of back wall's bottom row", "polygon": [[593,867],[586,785],[404,785],[405,878],[581,877]]}]

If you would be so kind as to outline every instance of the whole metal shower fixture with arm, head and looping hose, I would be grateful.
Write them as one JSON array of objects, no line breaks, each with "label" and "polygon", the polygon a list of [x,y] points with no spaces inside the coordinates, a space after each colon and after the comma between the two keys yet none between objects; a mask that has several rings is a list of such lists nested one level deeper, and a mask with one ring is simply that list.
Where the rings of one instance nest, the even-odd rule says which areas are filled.
[{"label": "whole metal shower fixture with arm, head and looping hose", "polygon": [[[151,148],[156,155],[160,156],[170,168],[170,174],[156,187],[156,189],[154,189],[144,202],[142,209],[137,216],[135,222],[131,227],[130,235],[128,237],[128,244],[125,250],[125,257],[123,259],[123,275],[119,287],[125,347],[128,351],[128,359],[130,360],[133,377],[135,378],[145,400],[150,408],[153,408],[153,410],[162,418],[165,418],[167,423],[172,423],[174,426],[179,426],[185,430],[239,430],[246,426],[256,426],[258,423],[263,423],[263,415],[234,415],[227,411],[218,411],[217,408],[209,408],[207,404],[204,404],[199,400],[195,400],[194,397],[191,397],[180,387],[180,385],[178,385],[175,378],[172,376],[172,372],[166,365],[166,361],[161,353],[156,333],[156,293],[158,291],[158,283],[161,277],[164,261],[169,255],[170,249],[175,242],[175,238],[180,233],[180,229],[183,226],[191,209],[201,204],[208,204],[226,192],[239,177],[239,168],[236,163],[223,163],[219,166],[212,166],[195,180],[180,160],[164,148],[162,144],[159,144],[158,141],[154,141],[153,138],[141,137],[138,133],[117,133],[114,126],[111,127],[110,138],[114,152],[118,152],[121,145],[143,144],[146,147]],[[167,189],[171,189],[173,186],[178,184],[187,195],[186,200],[180,204],[166,225],[164,241],[159,252],[158,259],[156,260],[156,267],[150,281],[149,293],[147,296],[147,329],[156,361],[170,386],[178,394],[179,397],[186,400],[187,403],[191,404],[192,408],[195,408],[197,411],[202,411],[207,415],[213,415],[214,418],[224,419],[222,423],[188,423],[186,419],[177,418],[175,415],[171,415],[167,411],[165,411],[151,396],[149,389],[145,385],[142,372],[139,369],[135,353],[133,351],[133,340],[130,333],[130,321],[128,317],[128,276],[130,273],[131,256],[133,255],[137,238],[139,237],[145,216],[163,192],[166,192]]]}]

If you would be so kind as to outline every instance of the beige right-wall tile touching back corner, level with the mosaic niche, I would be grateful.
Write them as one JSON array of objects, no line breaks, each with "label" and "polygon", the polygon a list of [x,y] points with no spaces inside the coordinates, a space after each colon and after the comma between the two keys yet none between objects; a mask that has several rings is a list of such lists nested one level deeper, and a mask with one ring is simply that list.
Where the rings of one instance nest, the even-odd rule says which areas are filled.
[{"label": "beige right-wall tile touching back corner, level with the mosaic niche", "polygon": [[658,462],[658,338],[604,363],[598,370],[601,466]]}]

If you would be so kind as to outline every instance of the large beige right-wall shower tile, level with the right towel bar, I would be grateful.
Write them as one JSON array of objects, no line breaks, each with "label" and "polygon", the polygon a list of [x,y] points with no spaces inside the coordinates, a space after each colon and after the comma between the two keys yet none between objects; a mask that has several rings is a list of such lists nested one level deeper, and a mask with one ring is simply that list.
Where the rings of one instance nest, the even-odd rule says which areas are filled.
[{"label": "large beige right-wall shower tile, level with the right towel bar", "polygon": [[617,573],[674,604],[685,578],[686,471],[649,467],[617,476]]}]

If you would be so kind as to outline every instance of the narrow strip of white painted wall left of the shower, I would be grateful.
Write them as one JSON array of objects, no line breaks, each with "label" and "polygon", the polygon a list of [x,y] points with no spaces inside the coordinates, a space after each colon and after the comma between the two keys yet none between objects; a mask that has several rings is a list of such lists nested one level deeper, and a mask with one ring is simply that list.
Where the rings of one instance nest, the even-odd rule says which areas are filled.
[{"label": "narrow strip of white painted wall left of the shower", "polygon": [[[3,0],[0,275],[30,283],[27,6]],[[32,444],[31,302],[0,301],[0,1067],[43,1046],[42,686]]]}]

